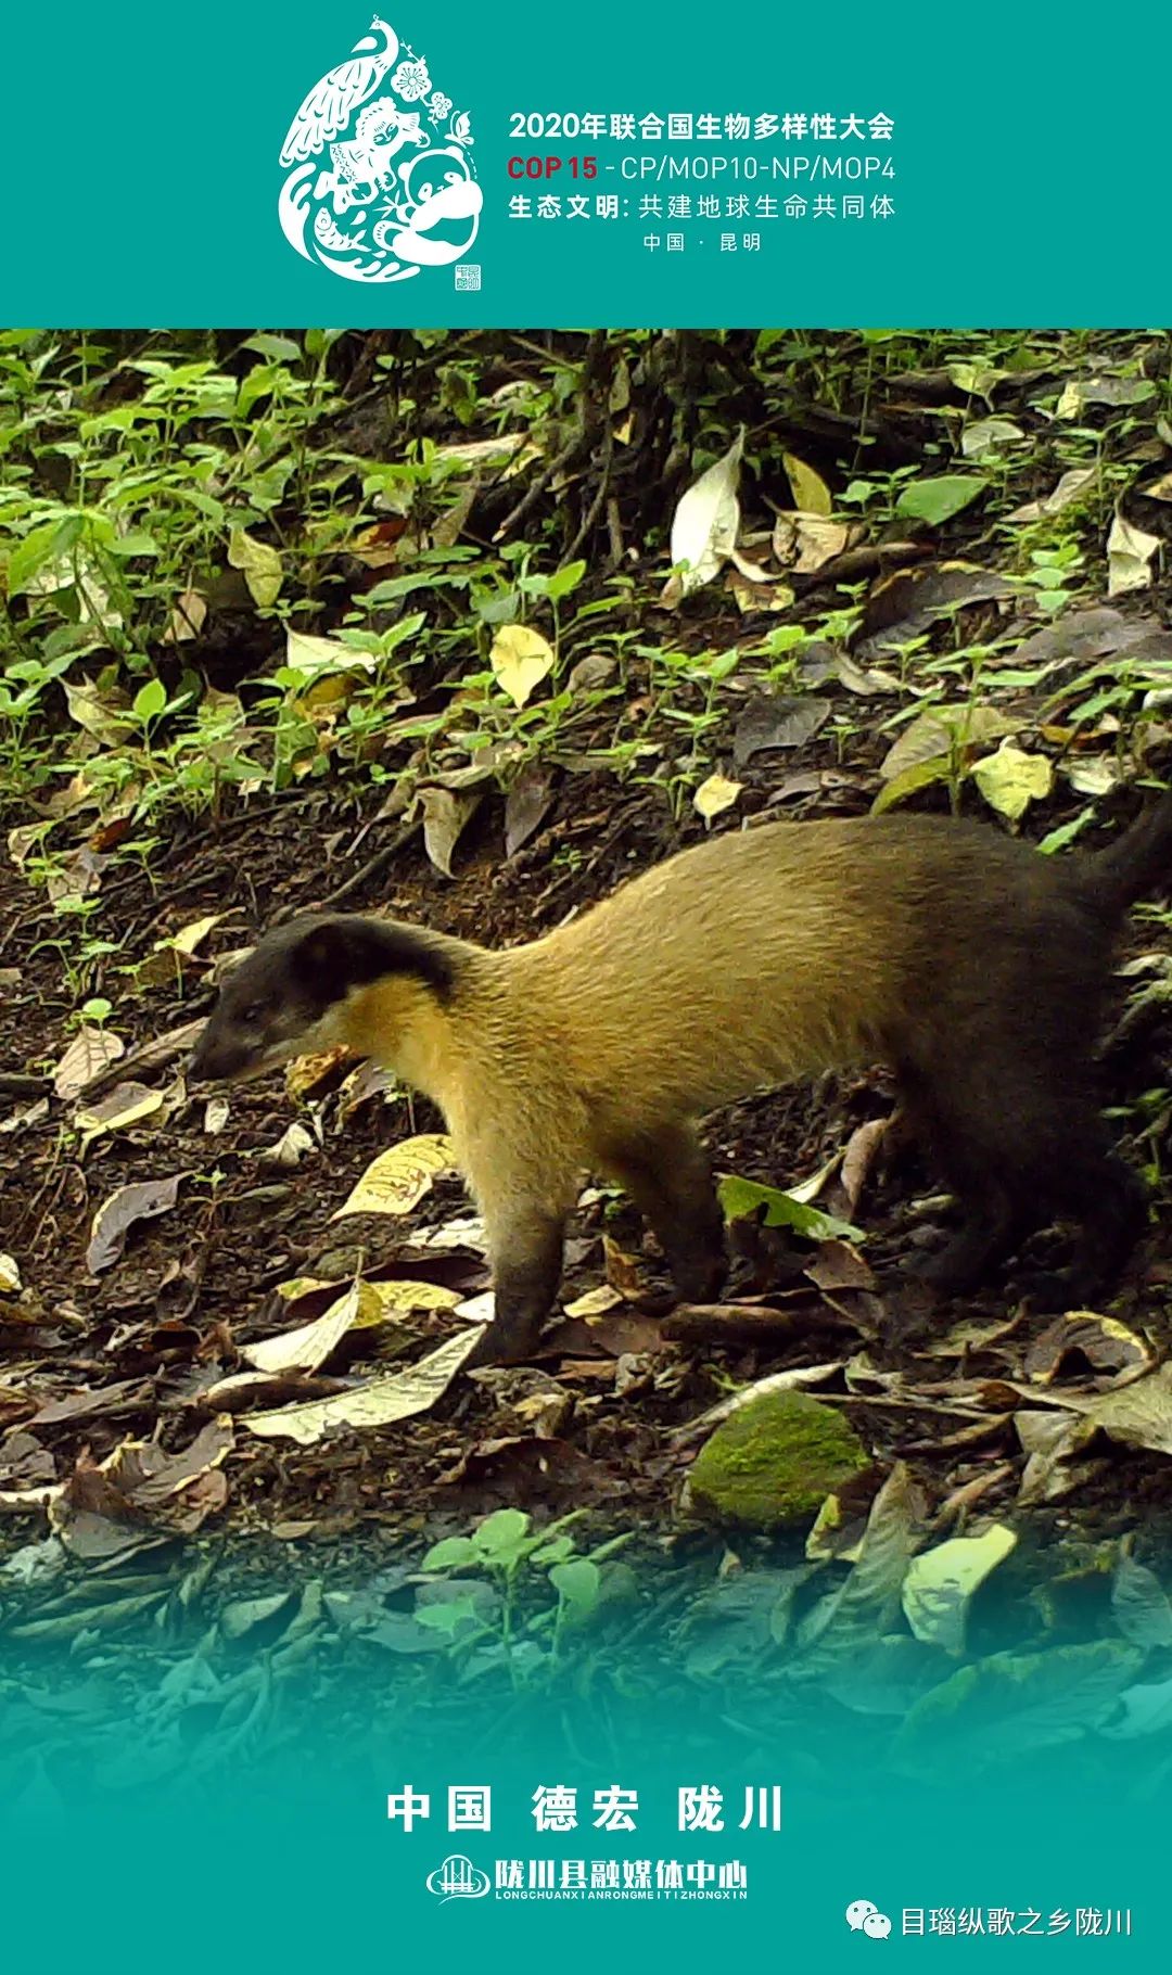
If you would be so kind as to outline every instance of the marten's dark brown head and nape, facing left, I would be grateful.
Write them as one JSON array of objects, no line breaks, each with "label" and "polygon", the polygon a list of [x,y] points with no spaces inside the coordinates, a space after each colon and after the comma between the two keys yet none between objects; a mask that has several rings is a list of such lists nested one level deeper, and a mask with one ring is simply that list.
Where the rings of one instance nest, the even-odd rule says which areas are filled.
[{"label": "marten's dark brown head and nape, facing left", "polygon": [[356,1019],[364,989],[401,980],[445,1001],[459,964],[457,940],[417,926],[352,912],[294,918],[227,976],[192,1076],[237,1082],[316,1049],[366,1047],[366,1023]]}]

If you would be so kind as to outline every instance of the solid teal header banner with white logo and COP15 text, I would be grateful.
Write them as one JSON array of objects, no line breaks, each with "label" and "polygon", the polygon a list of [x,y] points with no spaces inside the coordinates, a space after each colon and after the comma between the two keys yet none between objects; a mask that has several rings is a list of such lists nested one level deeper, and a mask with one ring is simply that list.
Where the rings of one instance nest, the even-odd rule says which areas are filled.
[{"label": "solid teal header banner with white logo and COP15 text", "polygon": [[[1168,12],[6,26],[10,322],[1148,324]],[[34,87],[36,81],[36,87]]]}]

